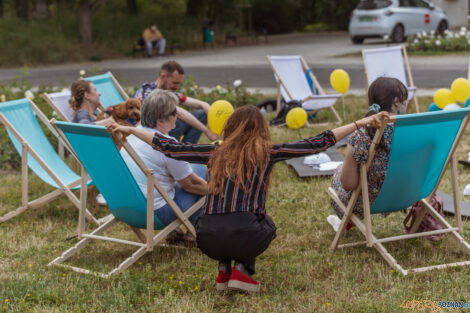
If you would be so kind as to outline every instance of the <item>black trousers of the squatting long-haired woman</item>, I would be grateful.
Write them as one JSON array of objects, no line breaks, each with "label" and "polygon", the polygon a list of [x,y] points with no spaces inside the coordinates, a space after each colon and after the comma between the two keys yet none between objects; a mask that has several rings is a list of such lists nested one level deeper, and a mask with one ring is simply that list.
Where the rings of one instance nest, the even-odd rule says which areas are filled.
[{"label": "black trousers of the squatting long-haired woman", "polygon": [[242,263],[255,273],[255,259],[276,238],[276,226],[267,215],[251,212],[204,214],[196,224],[197,245],[211,259]]}]

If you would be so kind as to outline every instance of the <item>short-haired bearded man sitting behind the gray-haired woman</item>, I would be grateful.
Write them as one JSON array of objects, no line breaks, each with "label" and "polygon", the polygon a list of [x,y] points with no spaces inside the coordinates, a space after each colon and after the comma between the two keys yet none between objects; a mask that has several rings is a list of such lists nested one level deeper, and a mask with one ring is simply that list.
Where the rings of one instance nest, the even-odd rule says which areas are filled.
[{"label": "short-haired bearded man sitting behind the gray-haired woman", "polygon": [[214,134],[205,125],[207,124],[207,112],[210,105],[176,92],[183,81],[183,67],[176,61],[168,61],[162,64],[160,74],[153,83],[145,83],[134,95],[134,98],[144,101],[145,98],[154,90],[173,91],[179,99],[179,104],[194,109],[191,113],[178,107],[178,120],[176,127],[170,132],[170,136],[181,140],[182,142],[197,143],[204,133],[211,141],[217,140],[218,136]]}]

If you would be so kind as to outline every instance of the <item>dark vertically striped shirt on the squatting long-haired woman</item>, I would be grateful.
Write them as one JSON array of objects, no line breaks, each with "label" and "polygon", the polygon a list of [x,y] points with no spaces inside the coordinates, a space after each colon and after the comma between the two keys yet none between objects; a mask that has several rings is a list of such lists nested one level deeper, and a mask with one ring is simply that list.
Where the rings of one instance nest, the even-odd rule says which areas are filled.
[{"label": "dark vertically striped shirt on the squatting long-haired woman", "polygon": [[[274,164],[279,161],[307,156],[325,151],[336,143],[336,138],[330,130],[318,136],[301,141],[275,144],[271,146],[268,162],[262,171],[251,167],[248,169],[244,186],[240,181],[227,178],[223,192],[208,194],[202,209],[203,214],[222,214],[230,212],[253,212],[265,214],[266,194],[268,191],[269,175]],[[218,145],[189,144],[174,141],[156,133],[153,138],[153,148],[166,156],[190,163],[206,164],[212,152]]]}]

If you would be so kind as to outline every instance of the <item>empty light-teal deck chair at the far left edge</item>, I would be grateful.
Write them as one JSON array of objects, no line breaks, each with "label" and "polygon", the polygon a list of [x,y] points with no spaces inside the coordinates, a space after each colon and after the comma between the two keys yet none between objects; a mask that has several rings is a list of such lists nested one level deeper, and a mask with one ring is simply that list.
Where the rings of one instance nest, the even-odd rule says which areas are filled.
[{"label": "empty light-teal deck chair at the far left edge", "polygon": [[[22,205],[14,211],[0,217],[5,222],[28,209],[35,209],[59,196],[66,195],[77,207],[80,201],[72,190],[80,188],[80,176],[73,172],[54,150],[42,131],[35,115],[58,136],[49,124],[45,115],[30,100],[19,100],[0,103],[0,121],[5,125],[15,149],[21,156],[21,196]],[[62,142],[59,138],[59,142]],[[67,144],[62,142],[67,147]],[[28,200],[28,167],[45,183],[56,188],[41,198]],[[91,182],[87,182],[90,185]],[[85,209],[86,217],[99,224],[91,213]]]}]

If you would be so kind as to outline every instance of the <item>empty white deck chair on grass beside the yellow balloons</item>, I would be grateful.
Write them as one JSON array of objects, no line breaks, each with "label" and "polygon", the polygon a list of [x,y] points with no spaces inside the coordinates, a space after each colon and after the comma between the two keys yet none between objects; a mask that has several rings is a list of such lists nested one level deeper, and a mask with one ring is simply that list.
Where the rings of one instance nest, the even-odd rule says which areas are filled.
[{"label": "empty white deck chair on grass beside the yellow balloons", "polygon": [[[277,111],[281,109],[281,99],[289,102],[297,100],[302,102],[302,107],[305,110],[311,111],[311,114],[316,113],[321,109],[329,109],[333,112],[338,120],[342,123],[342,119],[336,112],[333,105],[338,98],[339,94],[327,95],[318,83],[317,78],[309,71],[307,63],[300,55],[285,55],[285,56],[267,56],[268,63],[274,73],[274,78],[277,84]],[[305,73],[308,72],[315,89],[318,90],[318,95],[312,92],[310,85],[307,81]]]}]

